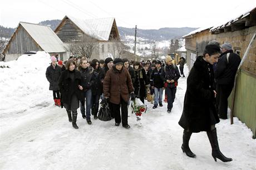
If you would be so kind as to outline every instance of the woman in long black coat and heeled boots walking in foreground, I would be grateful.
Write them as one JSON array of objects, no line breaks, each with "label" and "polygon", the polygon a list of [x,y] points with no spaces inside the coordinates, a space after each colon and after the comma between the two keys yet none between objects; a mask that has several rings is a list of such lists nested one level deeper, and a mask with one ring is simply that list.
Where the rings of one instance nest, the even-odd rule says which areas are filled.
[{"label": "woman in long black coat and heeled boots walking in foreground", "polygon": [[204,55],[196,58],[188,76],[187,89],[184,98],[184,108],[179,124],[184,128],[181,149],[189,157],[195,157],[190,151],[191,134],[206,131],[209,138],[214,160],[232,161],[225,157],[219,149],[215,124],[219,117],[214,107],[216,92],[213,88],[214,72],[212,64],[218,61],[220,48],[214,44],[205,47]]}]

